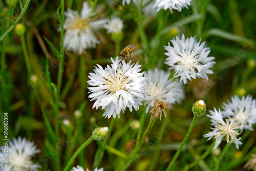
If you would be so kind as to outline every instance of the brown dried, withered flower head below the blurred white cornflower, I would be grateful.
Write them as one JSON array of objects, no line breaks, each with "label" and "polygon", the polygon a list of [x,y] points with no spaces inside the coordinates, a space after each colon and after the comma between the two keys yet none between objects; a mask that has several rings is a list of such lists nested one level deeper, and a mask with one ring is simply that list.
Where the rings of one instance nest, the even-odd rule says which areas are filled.
[{"label": "brown dried, withered flower head below the blurred white cornflower", "polygon": [[151,106],[151,110],[150,110],[150,113],[151,113],[150,122],[152,122],[154,118],[159,118],[159,117],[161,120],[162,113],[164,114],[164,117],[166,117],[167,116],[166,110],[170,110],[168,101],[164,102],[164,101],[155,100],[154,105]]}]

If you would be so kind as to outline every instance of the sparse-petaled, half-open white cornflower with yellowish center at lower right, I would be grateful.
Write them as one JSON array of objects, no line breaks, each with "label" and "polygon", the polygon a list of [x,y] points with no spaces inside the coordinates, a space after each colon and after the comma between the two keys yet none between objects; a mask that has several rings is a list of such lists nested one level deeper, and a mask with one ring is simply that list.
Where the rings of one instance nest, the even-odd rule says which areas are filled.
[{"label": "sparse-petaled, half-open white cornflower with yellowish center at lower right", "polygon": [[229,120],[226,119],[226,122],[224,122],[220,109],[219,112],[215,108],[214,111],[209,112],[211,115],[206,116],[211,118],[211,125],[214,125],[214,127],[211,127],[213,130],[212,132],[204,135],[204,137],[209,137],[207,141],[214,137],[216,139],[214,149],[216,149],[225,137],[227,143],[234,143],[236,144],[237,149],[239,149],[239,145],[241,145],[242,142],[240,141],[241,137],[237,138],[237,135],[241,133],[238,132],[239,125],[236,120],[232,119],[231,122],[229,122]]}]

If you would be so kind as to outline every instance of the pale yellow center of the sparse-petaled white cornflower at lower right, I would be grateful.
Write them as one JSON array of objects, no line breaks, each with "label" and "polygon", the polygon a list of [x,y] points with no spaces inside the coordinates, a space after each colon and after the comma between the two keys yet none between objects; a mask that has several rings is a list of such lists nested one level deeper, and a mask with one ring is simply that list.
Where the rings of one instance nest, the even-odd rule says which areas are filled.
[{"label": "pale yellow center of the sparse-petaled white cornflower at lower right", "polygon": [[232,121],[229,123],[228,119],[226,119],[226,123],[223,121],[220,121],[220,125],[218,126],[218,131],[220,135],[226,135],[227,136],[227,143],[229,143],[229,139],[234,140],[236,139],[237,135],[239,135],[240,133],[238,133],[237,129],[239,129],[239,125],[237,124],[237,122],[234,122],[234,119],[232,119]]}]

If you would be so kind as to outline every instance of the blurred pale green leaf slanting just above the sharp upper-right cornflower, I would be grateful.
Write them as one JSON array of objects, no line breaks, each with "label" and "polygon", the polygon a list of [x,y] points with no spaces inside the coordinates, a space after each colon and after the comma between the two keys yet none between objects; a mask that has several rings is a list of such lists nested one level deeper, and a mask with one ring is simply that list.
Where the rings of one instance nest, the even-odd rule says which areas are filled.
[{"label": "blurred pale green leaf slanting just above the sharp upper-right cornflower", "polygon": [[161,35],[167,33],[170,29],[174,28],[174,27],[182,27],[184,25],[187,25],[189,23],[193,23],[199,19],[202,19],[203,15],[202,14],[192,14],[186,17],[183,17],[182,19],[178,20],[177,22],[167,26],[166,28],[164,28],[161,32]]}]

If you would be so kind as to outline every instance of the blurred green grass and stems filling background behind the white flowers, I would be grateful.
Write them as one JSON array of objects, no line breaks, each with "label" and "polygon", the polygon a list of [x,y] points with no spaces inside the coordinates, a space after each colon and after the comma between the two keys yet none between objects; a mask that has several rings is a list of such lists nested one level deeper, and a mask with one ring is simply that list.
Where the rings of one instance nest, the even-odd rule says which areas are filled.
[{"label": "blurred green grass and stems filling background behind the white flowers", "polygon": [[[66,0],[65,11],[74,9],[80,11],[83,1]],[[22,12],[20,4],[26,6],[26,1],[17,1],[15,7],[0,1],[0,28],[3,35]],[[129,44],[135,45],[133,62],[139,61],[144,71],[148,69],[167,70],[163,62],[166,59],[163,46],[173,37],[197,36],[206,41],[211,49],[210,56],[217,62],[212,69],[214,74],[205,79],[193,79],[185,85],[186,98],[182,104],[174,105],[167,111],[167,117],[157,119],[140,148],[137,160],[130,170],[160,170],[174,156],[183,140],[193,114],[192,104],[203,99],[207,110],[214,106],[220,108],[223,101],[233,95],[250,94],[256,98],[256,18],[254,1],[193,1],[193,6],[181,12],[160,10],[156,15],[143,13],[142,27],[146,39],[138,28],[138,7],[134,4],[122,6],[121,1],[88,1],[96,7],[97,15],[108,18],[119,16],[124,21],[120,48],[116,49],[114,41],[106,30],[96,32],[100,44],[95,49],[87,50],[82,55],[63,51],[63,77],[58,83],[59,60],[51,48],[49,40],[57,51],[60,50],[60,27],[56,13],[60,1],[32,0],[19,23],[26,27],[23,36],[14,30],[0,41],[1,72],[0,72],[0,113],[8,112],[9,139],[22,136],[34,141],[41,153],[35,157],[35,162],[42,165],[42,170],[60,170],[67,164],[74,151],[86,141],[95,127],[109,126],[111,119],[102,117],[102,110],[92,109],[93,102],[88,99],[88,73],[93,72],[96,63],[102,67],[111,63],[110,56],[122,50]],[[12,19],[13,18],[13,19]],[[13,21],[12,21],[13,20]],[[46,39],[45,39],[45,38]],[[143,37],[142,37],[143,38]],[[29,65],[26,64],[28,57]],[[30,69],[28,69],[28,66]],[[34,75],[36,80],[31,80]],[[33,78],[33,77],[32,77]],[[60,86],[60,87],[58,87]],[[57,98],[57,100],[56,100]],[[75,110],[81,111],[81,118],[74,116]],[[93,169],[94,166],[104,167],[104,170],[119,170],[127,161],[127,156],[133,151],[136,143],[136,130],[130,127],[131,121],[139,120],[143,108],[132,113],[127,110],[117,118],[106,146],[102,162],[99,154],[102,142],[93,141],[82,151],[74,166]],[[209,113],[208,113],[209,114]],[[56,117],[57,116],[57,117]],[[71,123],[67,126],[63,120]],[[145,127],[150,121],[146,116]],[[2,124],[1,124],[2,125]],[[58,126],[59,125],[59,126]],[[1,141],[3,138],[1,126]],[[144,130],[145,130],[144,127]],[[203,135],[210,127],[210,119],[199,118],[181,155],[175,170],[181,170],[185,164],[197,159],[208,148]],[[219,163],[225,142],[193,170],[242,170],[243,164],[250,154],[256,152],[255,132],[246,131],[242,137],[243,145],[237,150],[232,145]],[[97,162],[99,163],[97,163]]]}]

